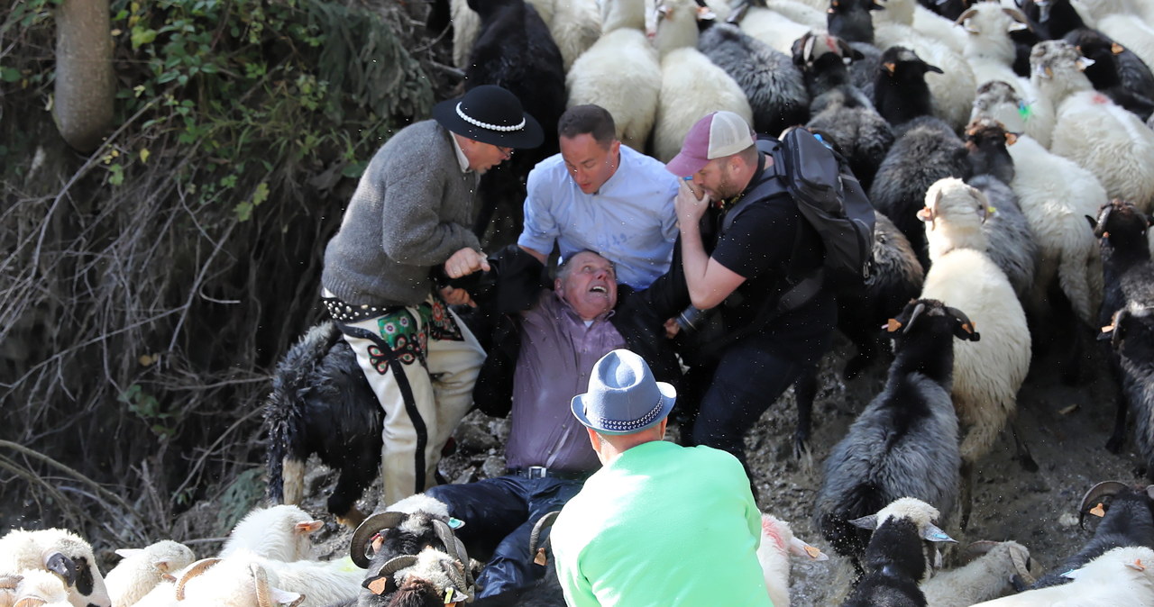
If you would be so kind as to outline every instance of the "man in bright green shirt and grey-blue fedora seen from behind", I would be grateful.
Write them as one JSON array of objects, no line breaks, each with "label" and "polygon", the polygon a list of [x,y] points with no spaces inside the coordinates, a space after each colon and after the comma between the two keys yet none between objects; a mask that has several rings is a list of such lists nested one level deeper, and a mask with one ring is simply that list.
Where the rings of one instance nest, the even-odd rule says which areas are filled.
[{"label": "man in bright green shirt and grey-blue fedora seen from behind", "polygon": [[570,607],[772,605],[745,471],[726,452],[662,440],[675,399],[629,350],[598,361],[574,397],[602,468],[553,528]]}]

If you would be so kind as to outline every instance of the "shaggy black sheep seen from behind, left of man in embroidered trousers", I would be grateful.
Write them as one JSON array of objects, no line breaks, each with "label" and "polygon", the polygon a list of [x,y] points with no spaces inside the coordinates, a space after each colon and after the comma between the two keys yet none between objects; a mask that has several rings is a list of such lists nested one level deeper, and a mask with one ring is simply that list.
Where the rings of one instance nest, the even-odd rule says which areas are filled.
[{"label": "shaggy black sheep seen from behind, left of man in embroidered trousers", "polygon": [[309,329],[277,365],[264,424],[269,499],[299,502],[305,461],[315,453],[339,475],[328,500],[329,513],[346,525],[359,524],[365,515],[357,509],[357,500],[381,466],[384,412],[336,324]]}]

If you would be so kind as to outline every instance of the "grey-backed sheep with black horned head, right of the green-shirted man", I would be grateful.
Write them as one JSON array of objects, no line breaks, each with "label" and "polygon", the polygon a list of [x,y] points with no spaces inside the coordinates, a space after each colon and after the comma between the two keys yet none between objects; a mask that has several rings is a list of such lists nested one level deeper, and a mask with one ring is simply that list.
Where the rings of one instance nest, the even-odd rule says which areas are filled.
[{"label": "grey-backed sheep with black horned head, right of the green-shirted man", "polygon": [[822,534],[859,568],[869,533],[854,519],[899,498],[950,515],[961,465],[950,397],[953,339],[979,339],[964,313],[935,299],[909,302],[886,331],[896,358],[885,388],[830,452],[814,508]]}]

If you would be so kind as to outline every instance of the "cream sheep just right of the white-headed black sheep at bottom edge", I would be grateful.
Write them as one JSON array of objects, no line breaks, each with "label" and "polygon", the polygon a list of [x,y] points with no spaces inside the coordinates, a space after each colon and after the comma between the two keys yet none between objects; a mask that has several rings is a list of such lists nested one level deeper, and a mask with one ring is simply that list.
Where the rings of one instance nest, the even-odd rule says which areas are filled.
[{"label": "cream sheep just right of the white-headed black sheep at bottom edge", "polygon": [[[921,585],[929,607],[966,607],[1010,594],[1013,592],[1010,578],[1014,575],[1026,584],[1033,582],[1029,551],[1025,546],[1017,541],[990,541],[983,547],[987,552],[981,556],[957,569],[939,571]],[[974,548],[972,544],[967,551]]]}]

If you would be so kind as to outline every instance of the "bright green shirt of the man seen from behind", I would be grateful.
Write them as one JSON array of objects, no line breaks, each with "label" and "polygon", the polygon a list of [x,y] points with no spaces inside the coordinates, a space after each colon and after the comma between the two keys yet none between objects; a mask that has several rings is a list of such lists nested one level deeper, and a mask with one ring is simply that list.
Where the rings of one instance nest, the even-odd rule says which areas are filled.
[{"label": "bright green shirt of the man seen from behind", "polygon": [[585,481],[550,541],[570,607],[770,606],[762,516],[737,460],[652,441]]}]

